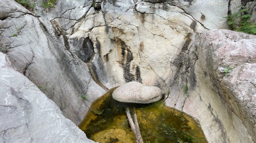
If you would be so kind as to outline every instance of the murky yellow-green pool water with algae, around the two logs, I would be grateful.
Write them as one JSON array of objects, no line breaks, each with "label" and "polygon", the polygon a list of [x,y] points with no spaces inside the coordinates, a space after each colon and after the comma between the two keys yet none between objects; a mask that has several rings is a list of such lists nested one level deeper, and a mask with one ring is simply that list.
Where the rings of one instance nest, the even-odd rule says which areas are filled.
[{"label": "murky yellow-green pool water with algae, around the two logs", "polygon": [[[153,104],[129,104],[115,101],[114,89],[94,101],[79,128],[89,139],[99,143],[134,143],[125,109],[136,108],[141,135],[145,143],[204,143],[207,142],[200,125],[189,115],[165,106],[163,101]],[[100,115],[98,112],[103,111]]]}]

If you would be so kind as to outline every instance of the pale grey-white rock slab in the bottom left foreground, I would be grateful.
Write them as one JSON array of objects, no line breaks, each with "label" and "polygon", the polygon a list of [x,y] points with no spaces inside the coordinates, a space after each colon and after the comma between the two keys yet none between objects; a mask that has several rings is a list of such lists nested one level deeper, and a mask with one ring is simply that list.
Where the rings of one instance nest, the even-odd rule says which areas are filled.
[{"label": "pale grey-white rock slab in the bottom left foreground", "polygon": [[2,52],[0,87],[0,142],[94,142]]}]

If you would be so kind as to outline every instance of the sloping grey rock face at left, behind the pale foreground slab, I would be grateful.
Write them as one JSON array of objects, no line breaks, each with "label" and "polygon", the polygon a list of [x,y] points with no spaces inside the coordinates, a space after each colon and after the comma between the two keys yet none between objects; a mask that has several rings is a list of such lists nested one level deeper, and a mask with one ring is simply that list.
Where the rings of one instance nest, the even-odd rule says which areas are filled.
[{"label": "sloping grey rock face at left, behind the pale foreground slab", "polygon": [[[106,91],[92,79],[86,63],[70,52],[56,21],[37,17],[15,1],[2,0],[0,4],[0,13],[7,14],[0,20],[1,50],[18,72],[40,87],[65,117],[78,125],[90,103]],[[86,101],[81,94],[88,95]]]}]

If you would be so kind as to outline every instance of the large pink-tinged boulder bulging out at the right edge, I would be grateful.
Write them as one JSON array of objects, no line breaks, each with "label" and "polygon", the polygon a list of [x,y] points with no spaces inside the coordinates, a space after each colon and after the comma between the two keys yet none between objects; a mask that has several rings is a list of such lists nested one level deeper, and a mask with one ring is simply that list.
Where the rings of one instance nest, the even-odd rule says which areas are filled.
[{"label": "large pink-tinged boulder bulging out at the right edge", "polygon": [[[256,36],[210,30],[201,38],[202,75],[256,140]],[[231,66],[230,76],[224,70]],[[229,69],[228,69],[229,70]]]}]

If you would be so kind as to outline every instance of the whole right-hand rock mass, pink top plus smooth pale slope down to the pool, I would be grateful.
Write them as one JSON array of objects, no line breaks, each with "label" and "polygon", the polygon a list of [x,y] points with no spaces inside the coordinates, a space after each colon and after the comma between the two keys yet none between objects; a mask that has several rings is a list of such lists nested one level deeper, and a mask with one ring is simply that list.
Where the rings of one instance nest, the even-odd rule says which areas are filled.
[{"label": "whole right-hand rock mass, pink top plus smooth pale slope down to the pool", "polygon": [[[255,35],[242,32],[205,32],[190,46],[180,75],[186,77],[187,94],[176,88],[184,85],[179,76],[169,88],[166,105],[198,119],[209,142],[255,142],[255,42]],[[223,77],[228,65],[233,71]]]}]

